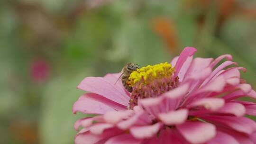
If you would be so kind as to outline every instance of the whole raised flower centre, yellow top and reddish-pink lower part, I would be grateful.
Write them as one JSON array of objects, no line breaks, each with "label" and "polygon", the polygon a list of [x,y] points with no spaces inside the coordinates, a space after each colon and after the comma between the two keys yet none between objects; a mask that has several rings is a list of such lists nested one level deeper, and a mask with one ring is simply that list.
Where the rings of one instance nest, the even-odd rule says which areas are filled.
[{"label": "whole raised flower centre, yellow top and reddish-pink lower part", "polygon": [[138,99],[154,98],[176,88],[179,78],[174,78],[175,69],[170,63],[147,65],[130,74],[128,84],[133,88],[130,108],[137,105]]}]

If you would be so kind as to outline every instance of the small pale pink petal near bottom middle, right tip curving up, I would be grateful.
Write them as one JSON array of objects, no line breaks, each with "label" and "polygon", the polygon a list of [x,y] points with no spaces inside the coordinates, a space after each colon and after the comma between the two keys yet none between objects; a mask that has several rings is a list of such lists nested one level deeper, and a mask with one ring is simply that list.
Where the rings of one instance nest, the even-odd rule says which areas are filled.
[{"label": "small pale pink petal near bottom middle, right tip curving up", "polygon": [[133,126],[130,128],[130,133],[137,139],[150,138],[156,135],[161,126],[160,123],[149,126]]}]

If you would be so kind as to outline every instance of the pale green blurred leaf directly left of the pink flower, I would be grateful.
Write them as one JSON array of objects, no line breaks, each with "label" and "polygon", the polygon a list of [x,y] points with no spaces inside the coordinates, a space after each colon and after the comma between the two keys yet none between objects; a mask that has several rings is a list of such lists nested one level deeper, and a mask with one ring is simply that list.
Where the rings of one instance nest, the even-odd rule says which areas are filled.
[{"label": "pale green blurred leaf directly left of the pink flower", "polygon": [[72,106],[82,91],[75,86],[83,79],[87,72],[60,76],[49,81],[43,92],[40,110],[39,132],[42,144],[72,144],[76,131],[73,129],[74,121],[82,118],[82,114],[73,115]]}]

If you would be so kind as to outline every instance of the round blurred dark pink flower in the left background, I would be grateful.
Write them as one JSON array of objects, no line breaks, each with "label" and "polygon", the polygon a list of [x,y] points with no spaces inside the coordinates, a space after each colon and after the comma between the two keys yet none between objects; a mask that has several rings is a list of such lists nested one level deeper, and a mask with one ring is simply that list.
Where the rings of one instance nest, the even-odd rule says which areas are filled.
[{"label": "round blurred dark pink flower in the left background", "polygon": [[37,83],[46,81],[49,76],[49,72],[49,65],[43,59],[36,59],[30,65],[32,80]]}]

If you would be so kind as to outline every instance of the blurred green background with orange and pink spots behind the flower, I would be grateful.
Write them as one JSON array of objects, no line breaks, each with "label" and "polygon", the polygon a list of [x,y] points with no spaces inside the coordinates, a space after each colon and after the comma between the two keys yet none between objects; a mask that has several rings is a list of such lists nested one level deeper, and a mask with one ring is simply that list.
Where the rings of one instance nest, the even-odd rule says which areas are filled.
[{"label": "blurred green background with orange and pink spots behind the flower", "polygon": [[73,144],[86,76],[232,54],[256,88],[256,0],[0,0],[0,143]]}]

